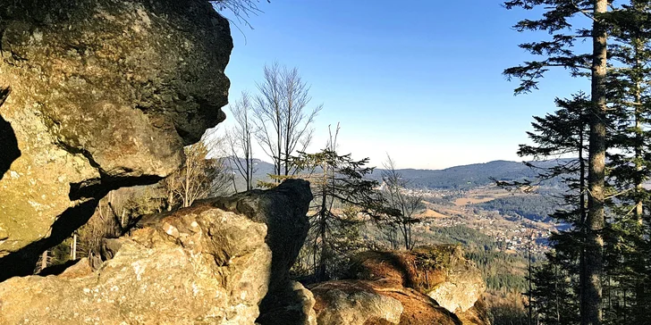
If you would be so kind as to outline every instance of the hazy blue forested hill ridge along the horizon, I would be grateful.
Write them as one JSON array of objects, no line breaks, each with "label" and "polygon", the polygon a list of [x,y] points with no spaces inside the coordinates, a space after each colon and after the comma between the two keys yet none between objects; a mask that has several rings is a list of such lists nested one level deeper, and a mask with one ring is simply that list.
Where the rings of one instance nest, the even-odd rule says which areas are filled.
[{"label": "hazy blue forested hill ridge along the horizon", "polygon": [[[267,179],[266,175],[274,172],[274,165],[272,163],[259,159],[255,159],[254,163],[256,164],[256,172],[254,174],[256,181],[258,179]],[[558,160],[536,162],[537,166],[540,167],[550,167],[558,163]],[[370,178],[380,181],[382,179],[382,171],[384,170],[376,169],[370,175]],[[404,179],[410,182],[410,187],[436,189],[469,189],[491,184],[493,183],[491,178],[509,181],[533,179],[537,175],[537,171],[528,168],[522,162],[502,160],[454,166],[444,170],[402,169],[399,172]],[[556,185],[554,182],[548,184]]]}]

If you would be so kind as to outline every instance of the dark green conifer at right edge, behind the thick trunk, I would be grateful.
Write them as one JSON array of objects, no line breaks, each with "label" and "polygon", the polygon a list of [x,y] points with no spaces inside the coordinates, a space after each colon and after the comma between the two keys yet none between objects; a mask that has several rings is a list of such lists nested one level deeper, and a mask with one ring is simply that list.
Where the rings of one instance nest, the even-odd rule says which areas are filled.
[{"label": "dark green conifer at right edge, behind the thick trunk", "polygon": [[607,315],[617,321],[648,320],[649,303],[647,219],[649,179],[649,63],[651,63],[650,5],[632,0],[621,4],[610,15],[613,26],[609,57],[613,67],[608,74],[608,96],[612,102],[613,136],[608,155],[610,192],[616,198],[608,202],[611,211],[605,233],[606,273],[609,304]]}]

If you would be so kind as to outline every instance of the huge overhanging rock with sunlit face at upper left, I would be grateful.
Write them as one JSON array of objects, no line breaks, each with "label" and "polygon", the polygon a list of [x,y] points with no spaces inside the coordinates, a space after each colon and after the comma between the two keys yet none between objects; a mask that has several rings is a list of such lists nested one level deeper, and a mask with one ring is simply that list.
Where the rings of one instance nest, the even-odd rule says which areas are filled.
[{"label": "huge overhanging rock with sunlit face at upper left", "polygon": [[178,168],[224,120],[231,50],[203,0],[0,2],[0,280]]}]

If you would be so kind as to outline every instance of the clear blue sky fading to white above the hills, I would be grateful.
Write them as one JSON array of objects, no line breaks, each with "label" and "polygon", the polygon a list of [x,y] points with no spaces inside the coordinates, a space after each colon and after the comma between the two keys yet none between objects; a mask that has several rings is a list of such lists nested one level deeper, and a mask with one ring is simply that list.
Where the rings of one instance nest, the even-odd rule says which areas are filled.
[{"label": "clear blue sky fading to white above the hills", "polygon": [[[254,29],[232,28],[230,99],[256,91],[265,63],[297,67],[312,104],[324,104],[313,151],[341,122],[340,152],[376,166],[386,153],[400,168],[519,161],[531,116],[552,112],[554,96],[588,89],[559,70],[513,96],[518,83],[503,69],[532,59],[518,44],[545,34],[511,29],[536,16],[500,1],[263,0],[260,9]],[[268,160],[259,149],[256,157]]]}]

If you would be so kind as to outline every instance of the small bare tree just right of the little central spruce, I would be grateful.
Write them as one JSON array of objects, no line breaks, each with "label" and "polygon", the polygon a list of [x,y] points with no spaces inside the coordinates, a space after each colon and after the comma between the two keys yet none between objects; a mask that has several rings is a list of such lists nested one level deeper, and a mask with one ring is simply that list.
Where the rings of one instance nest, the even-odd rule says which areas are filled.
[{"label": "small bare tree just right of the little central spruce", "polygon": [[[392,238],[394,241],[399,232],[404,248],[413,249],[416,239],[411,230],[413,225],[420,221],[415,217],[415,213],[422,208],[423,196],[406,193],[409,182],[396,171],[395,162],[390,155],[386,155],[386,161],[382,165],[385,168],[385,171],[382,171],[382,180],[387,204],[399,212],[389,219],[389,241],[392,242]],[[394,242],[392,244],[395,246]]]}]

